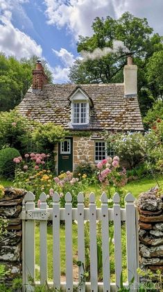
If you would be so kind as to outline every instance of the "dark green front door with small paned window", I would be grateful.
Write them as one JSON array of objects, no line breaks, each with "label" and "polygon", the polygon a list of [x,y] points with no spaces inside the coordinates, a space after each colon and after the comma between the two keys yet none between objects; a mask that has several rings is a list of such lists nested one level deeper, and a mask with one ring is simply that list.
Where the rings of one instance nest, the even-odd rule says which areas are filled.
[{"label": "dark green front door with small paned window", "polygon": [[73,138],[65,138],[58,143],[58,174],[73,171]]}]

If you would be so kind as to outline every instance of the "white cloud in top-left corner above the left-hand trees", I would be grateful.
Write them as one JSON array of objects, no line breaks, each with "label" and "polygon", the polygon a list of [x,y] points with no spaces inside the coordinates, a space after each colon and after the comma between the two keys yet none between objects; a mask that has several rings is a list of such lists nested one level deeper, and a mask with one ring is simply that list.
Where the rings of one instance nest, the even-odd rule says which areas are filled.
[{"label": "white cloud in top-left corner above the left-hand trees", "polygon": [[[20,5],[28,0],[16,0],[14,4]],[[14,4],[10,0],[0,0],[0,51],[7,56],[16,58],[30,57],[33,54],[42,56],[42,47],[35,40],[12,25],[12,10]]]}]

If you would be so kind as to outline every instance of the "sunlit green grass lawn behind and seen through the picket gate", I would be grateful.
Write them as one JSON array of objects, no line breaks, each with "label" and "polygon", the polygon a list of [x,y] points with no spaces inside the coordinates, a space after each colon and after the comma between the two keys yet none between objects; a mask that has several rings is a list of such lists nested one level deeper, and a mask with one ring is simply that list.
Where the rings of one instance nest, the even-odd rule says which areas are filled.
[{"label": "sunlit green grass lawn behind and seen through the picket gate", "polygon": [[[157,181],[160,185],[163,185],[163,176],[157,177]],[[0,184],[3,184],[3,186],[12,186],[12,182],[6,181],[4,179],[0,179]],[[130,181],[125,186],[126,193],[130,192],[132,195],[137,197],[140,193],[148,190],[149,188],[155,186],[157,182],[155,179],[149,179],[149,178],[143,178],[139,181]],[[102,190],[98,186],[88,186],[87,188],[87,196],[89,193],[94,192],[96,195],[96,205],[99,207],[101,205],[101,202],[99,201]],[[114,193],[114,188],[112,188],[112,193]],[[112,223],[110,223],[110,234],[113,233],[113,226]],[[100,235],[99,235],[100,238]],[[89,238],[86,240],[89,244]],[[49,280],[53,279],[53,260],[52,260],[52,254],[53,254],[53,234],[52,234],[52,227],[48,226],[48,234],[47,234],[47,257],[48,257],[48,276]],[[36,226],[36,232],[35,232],[35,255],[36,255],[36,265],[40,266],[40,232],[39,232],[39,225]],[[126,280],[126,229],[125,225],[122,225],[121,227],[121,245],[122,245],[122,268],[123,268],[123,282]],[[73,254],[74,254],[74,275],[75,278],[77,277],[77,271],[78,267],[75,265],[76,260],[78,260],[77,257],[77,225],[73,224]],[[85,248],[87,250],[87,248]],[[88,247],[89,250],[89,247]],[[62,275],[62,281],[64,281],[64,275],[65,275],[65,225],[61,225],[60,227],[60,266],[61,266],[61,275]],[[87,263],[89,266],[89,261]],[[111,272],[111,280],[114,281],[114,244],[111,242],[110,244],[110,272]],[[99,273],[101,275],[101,273]],[[36,268],[36,279],[40,278],[39,270]],[[100,278],[100,277],[99,277]]]}]

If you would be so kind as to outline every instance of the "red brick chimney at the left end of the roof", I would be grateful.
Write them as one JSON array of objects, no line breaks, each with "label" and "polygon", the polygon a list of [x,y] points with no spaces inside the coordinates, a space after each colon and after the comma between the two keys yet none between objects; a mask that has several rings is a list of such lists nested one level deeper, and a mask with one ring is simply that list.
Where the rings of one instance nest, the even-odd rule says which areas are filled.
[{"label": "red brick chimney at the left end of the roof", "polygon": [[37,60],[35,70],[33,70],[33,90],[42,90],[46,83],[48,83],[48,77],[44,73],[41,61]]}]

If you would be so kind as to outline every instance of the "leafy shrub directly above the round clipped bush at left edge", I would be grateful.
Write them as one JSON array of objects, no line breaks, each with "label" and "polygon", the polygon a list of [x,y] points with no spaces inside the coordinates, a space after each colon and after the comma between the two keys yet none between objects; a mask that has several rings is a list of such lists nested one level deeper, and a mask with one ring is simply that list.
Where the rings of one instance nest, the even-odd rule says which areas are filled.
[{"label": "leafy shrub directly above the round clipped bush at left edge", "polygon": [[24,152],[30,140],[31,122],[15,110],[0,113],[0,149],[15,147]]}]

